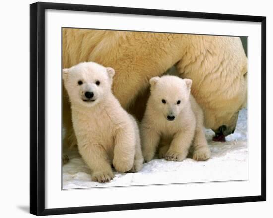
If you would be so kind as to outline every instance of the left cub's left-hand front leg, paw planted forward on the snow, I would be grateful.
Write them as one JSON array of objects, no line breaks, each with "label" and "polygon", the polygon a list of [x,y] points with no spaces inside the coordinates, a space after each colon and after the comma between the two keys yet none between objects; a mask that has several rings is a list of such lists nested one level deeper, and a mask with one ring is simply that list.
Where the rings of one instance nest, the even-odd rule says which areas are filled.
[{"label": "left cub's left-hand front leg, paw planted forward on the snow", "polygon": [[109,182],[114,178],[110,161],[105,149],[99,144],[85,144],[78,146],[84,162],[91,169],[92,181]]}]

